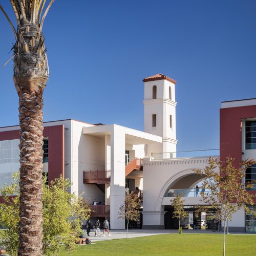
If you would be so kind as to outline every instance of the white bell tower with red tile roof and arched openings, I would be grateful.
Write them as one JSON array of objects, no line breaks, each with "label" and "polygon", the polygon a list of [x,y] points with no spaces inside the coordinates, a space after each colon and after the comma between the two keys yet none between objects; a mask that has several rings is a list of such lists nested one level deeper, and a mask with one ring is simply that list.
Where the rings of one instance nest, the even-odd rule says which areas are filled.
[{"label": "white bell tower with red tile roof and arched openings", "polygon": [[147,144],[147,154],[176,152],[176,81],[156,74],[144,78],[143,82],[144,132],[163,138],[161,144]]}]

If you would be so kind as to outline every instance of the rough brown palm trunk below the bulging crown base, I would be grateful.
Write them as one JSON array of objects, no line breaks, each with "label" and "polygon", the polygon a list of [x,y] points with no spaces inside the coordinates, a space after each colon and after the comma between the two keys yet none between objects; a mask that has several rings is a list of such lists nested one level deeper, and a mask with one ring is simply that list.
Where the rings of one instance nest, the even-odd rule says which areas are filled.
[{"label": "rough brown palm trunk below the bulging crown base", "polygon": [[[36,109],[36,111],[35,111]],[[42,250],[42,97],[23,93],[19,98],[20,207],[19,255]]]}]

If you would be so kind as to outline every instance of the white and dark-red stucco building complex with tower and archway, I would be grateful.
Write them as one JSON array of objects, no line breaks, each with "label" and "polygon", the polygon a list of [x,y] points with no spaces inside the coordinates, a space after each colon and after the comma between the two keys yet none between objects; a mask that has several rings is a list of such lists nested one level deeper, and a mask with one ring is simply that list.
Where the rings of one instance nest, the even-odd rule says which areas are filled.
[{"label": "white and dark-red stucco building complex with tower and archway", "polygon": [[[49,182],[59,175],[69,178],[73,183],[71,193],[84,193],[89,202],[97,202],[92,206],[92,218],[108,217],[112,229],[125,228],[124,220],[118,219],[125,186],[131,190],[136,187],[141,190],[139,196],[143,197],[143,205],[138,223],[140,227],[176,228],[170,199],[183,193],[188,211],[188,217],[182,220],[183,228],[211,228],[214,212],[202,212],[200,218],[194,214],[195,205],[202,203],[195,186],[200,186],[204,177],[196,175],[193,169],[204,169],[209,156],[218,155],[219,151],[177,152],[176,81],[162,74],[143,81],[144,132],[117,124],[90,124],[72,119],[45,122],[44,173],[48,175]],[[224,139],[230,137],[231,141],[242,141],[243,138],[243,146],[247,148],[244,154],[256,158],[254,133],[248,132],[256,133],[254,101],[241,101],[234,105],[223,102],[225,111],[221,112],[221,120],[230,120],[228,115],[234,108],[247,107],[242,112],[249,115],[238,118],[239,125],[241,120],[243,122],[242,135],[228,136],[229,130],[225,128]],[[225,123],[223,127],[228,126]],[[12,173],[19,168],[18,130],[18,126],[0,127],[0,186],[10,183]],[[248,136],[253,138],[250,143],[248,139],[251,137]],[[224,139],[221,137],[220,148],[231,154],[233,147],[222,143]],[[242,157],[239,147],[240,144],[237,154]],[[253,166],[250,179],[254,179],[254,169],[256,167]],[[246,217],[243,211],[238,212],[229,227],[233,231],[245,231],[248,218],[251,217]],[[256,225],[254,227],[253,224],[249,231],[256,231]]]}]

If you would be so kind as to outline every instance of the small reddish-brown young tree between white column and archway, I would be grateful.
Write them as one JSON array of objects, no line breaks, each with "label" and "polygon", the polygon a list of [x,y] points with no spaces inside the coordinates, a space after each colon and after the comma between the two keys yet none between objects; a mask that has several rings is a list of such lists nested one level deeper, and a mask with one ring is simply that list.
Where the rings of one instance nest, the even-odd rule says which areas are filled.
[{"label": "small reddish-brown young tree between white column and archway", "polygon": [[118,219],[127,220],[127,233],[126,239],[128,237],[128,227],[129,221],[139,221],[140,207],[141,200],[138,198],[136,194],[129,194],[125,195],[124,204],[119,207],[118,212]]}]

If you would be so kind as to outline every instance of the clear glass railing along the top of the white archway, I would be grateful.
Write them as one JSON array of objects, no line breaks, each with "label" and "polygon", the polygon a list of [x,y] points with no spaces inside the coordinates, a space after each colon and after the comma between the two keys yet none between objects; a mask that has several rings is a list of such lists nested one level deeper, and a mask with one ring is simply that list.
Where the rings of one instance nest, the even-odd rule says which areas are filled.
[{"label": "clear glass railing along the top of the white archway", "polygon": [[166,153],[152,153],[155,160],[172,159],[172,158],[187,158],[187,157],[206,157],[219,156],[220,150],[196,150],[196,151],[177,151]]}]

